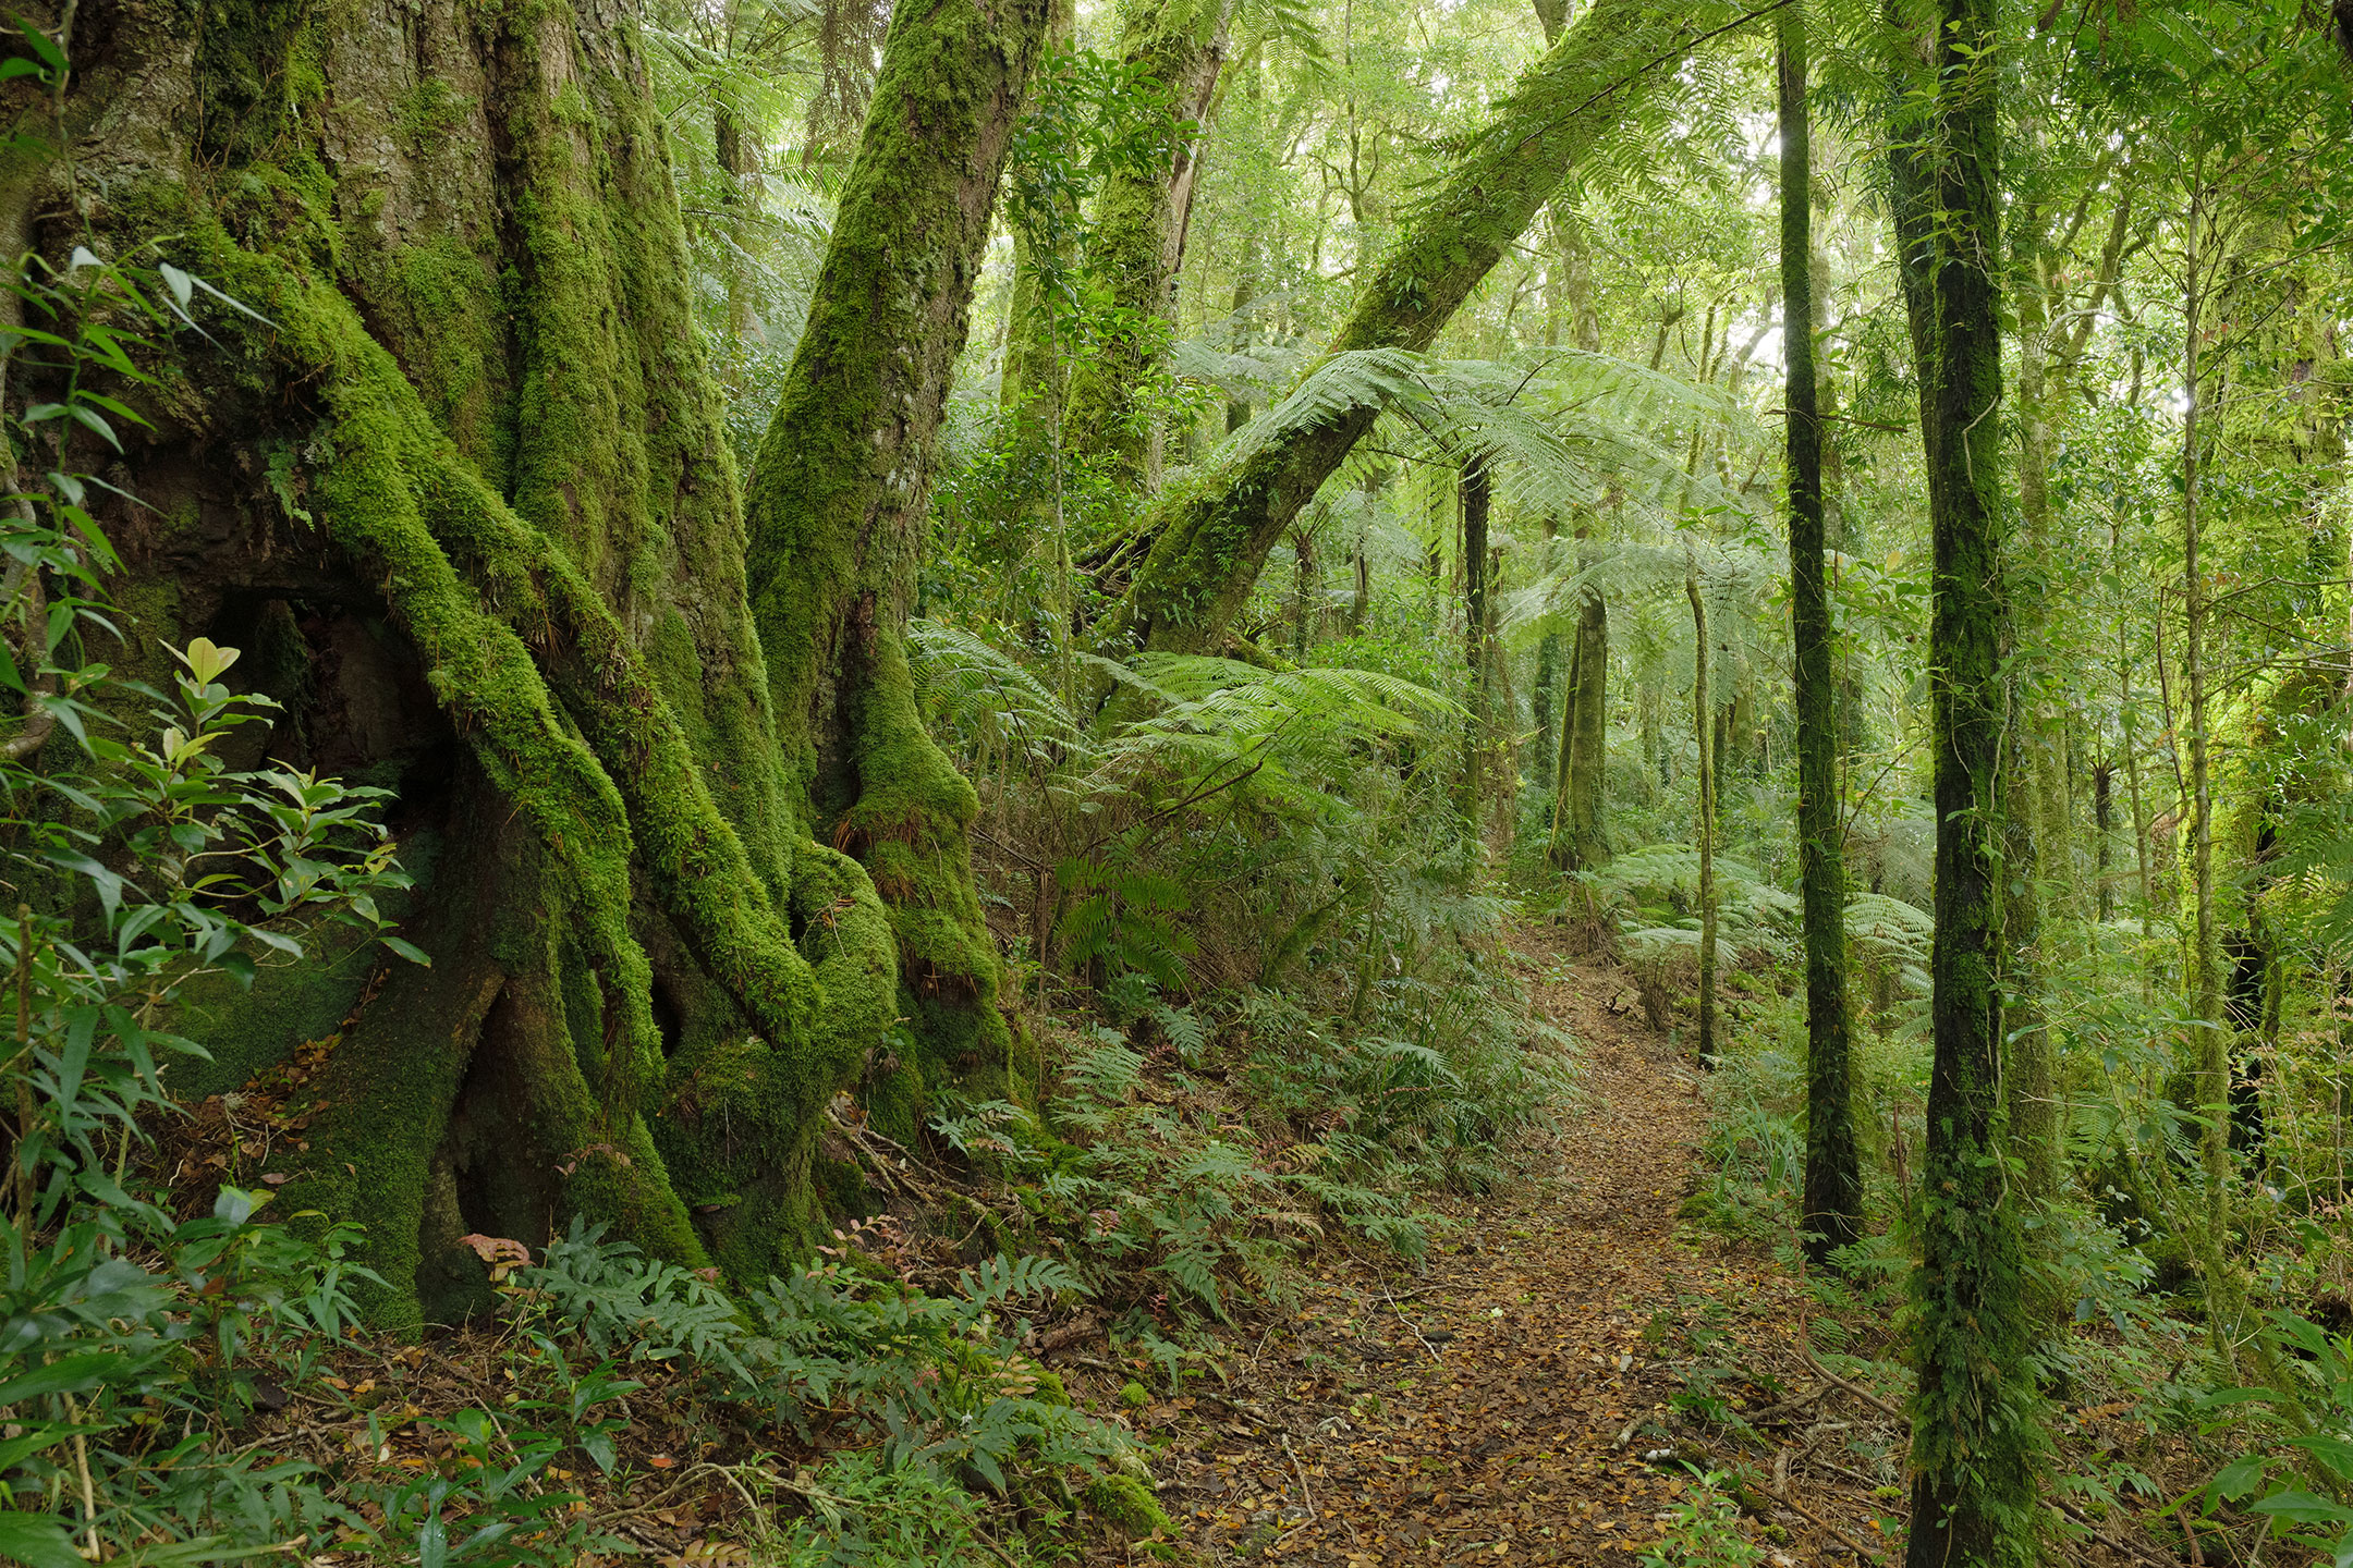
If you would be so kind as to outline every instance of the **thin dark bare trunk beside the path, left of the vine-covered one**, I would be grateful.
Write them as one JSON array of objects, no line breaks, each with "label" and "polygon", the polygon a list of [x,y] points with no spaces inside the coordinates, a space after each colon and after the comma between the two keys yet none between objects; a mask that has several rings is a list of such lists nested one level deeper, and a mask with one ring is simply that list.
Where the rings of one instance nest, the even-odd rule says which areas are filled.
[{"label": "thin dark bare trunk beside the path, left of the vine-covered one", "polygon": [[1814,386],[1814,195],[1805,12],[1779,19],[1781,322],[1788,353],[1788,590],[1798,710],[1798,889],[1805,905],[1805,1253],[1819,1267],[1864,1234],[1847,1011],[1847,867],[1838,811],[1838,628],[1821,520]]}]

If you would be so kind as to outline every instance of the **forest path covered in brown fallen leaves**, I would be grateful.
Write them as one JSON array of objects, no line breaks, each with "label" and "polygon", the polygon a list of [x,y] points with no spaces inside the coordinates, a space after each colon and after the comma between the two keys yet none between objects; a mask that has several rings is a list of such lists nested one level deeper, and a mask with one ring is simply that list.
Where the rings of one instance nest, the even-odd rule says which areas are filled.
[{"label": "forest path covered in brown fallen leaves", "polygon": [[[1675,1234],[1706,1119],[1697,1067],[1638,1009],[1612,1011],[1631,999],[1624,971],[1555,940],[1511,938],[1537,1009],[1581,1044],[1558,1138],[1487,1197],[1452,1204],[1457,1229],[1419,1274],[1322,1260],[1231,1387],[1144,1413],[1167,1441],[1162,1502],[1198,1561],[1633,1563],[1689,1490],[1682,1465],[1647,1455],[1734,1458],[1675,1418],[1694,1368],[1748,1408],[1824,1387],[1795,1349],[1795,1281],[1755,1248]],[[1784,1460],[1800,1462],[1786,1493],[1751,1490],[1786,1530],[1786,1544],[1760,1542],[1765,1563],[1854,1563],[1840,1535],[1885,1542],[1873,1514],[1887,1505],[1845,1439],[1868,1425],[1892,1439],[1892,1422],[1838,1403],[1845,1420],[1814,1403],[1800,1427],[1817,1429],[1788,1434]],[[1833,1455],[1847,1476],[1824,1469]],[[1739,1458],[1772,1483],[1772,1460]]]}]

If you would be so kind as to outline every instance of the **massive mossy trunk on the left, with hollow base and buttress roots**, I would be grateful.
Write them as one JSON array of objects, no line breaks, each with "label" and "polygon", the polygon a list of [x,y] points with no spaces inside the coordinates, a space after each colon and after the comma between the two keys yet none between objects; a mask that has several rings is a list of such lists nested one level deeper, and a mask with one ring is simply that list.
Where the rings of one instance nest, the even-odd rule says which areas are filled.
[{"label": "massive mossy trunk on the left, with hollow base and buttress roots", "polygon": [[793,811],[628,19],[85,0],[78,33],[71,172],[19,162],[0,219],[256,313],[181,334],[115,468],[155,508],[111,520],[120,597],[254,654],[271,755],[395,790],[435,959],[266,971],[184,1020],[214,1060],[174,1088],[296,1074],[282,1206],[367,1222],[393,1326],[489,1298],[464,1234],[572,1218],[762,1279],[894,952]]}]

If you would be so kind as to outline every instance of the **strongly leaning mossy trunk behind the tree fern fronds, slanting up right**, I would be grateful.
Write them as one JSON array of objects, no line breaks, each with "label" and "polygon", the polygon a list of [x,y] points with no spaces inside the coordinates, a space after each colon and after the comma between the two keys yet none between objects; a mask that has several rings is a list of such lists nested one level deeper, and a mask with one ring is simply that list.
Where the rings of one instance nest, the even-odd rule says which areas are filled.
[{"label": "strongly leaning mossy trunk behind the tree fern fronds, slanting up right", "polygon": [[[1720,7],[1595,0],[1468,139],[1452,174],[1355,299],[1332,353],[1424,350],[1553,193],[1701,40]],[[1162,498],[1141,522],[1153,538],[1106,642],[1198,654],[1249,599],[1282,538],[1377,409],[1348,407],[1247,447]],[[1108,686],[1104,689],[1108,693]]]}]

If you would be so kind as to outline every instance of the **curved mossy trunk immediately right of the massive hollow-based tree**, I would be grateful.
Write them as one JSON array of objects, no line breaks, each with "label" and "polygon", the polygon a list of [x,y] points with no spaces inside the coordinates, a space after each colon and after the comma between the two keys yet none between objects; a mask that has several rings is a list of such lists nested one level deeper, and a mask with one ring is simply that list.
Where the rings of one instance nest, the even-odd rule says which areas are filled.
[{"label": "curved mossy trunk immediately right of the massive hollow-based tree", "polygon": [[[1028,1098],[972,882],[979,797],[915,710],[906,616],[929,463],[1045,0],[906,2],[748,501],[748,571],[786,771],[809,823],[889,905],[915,1051],[887,1131],[955,1077]],[[873,1041],[880,1051],[882,1044]]]}]

